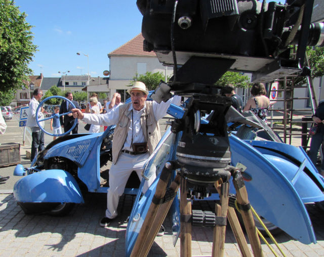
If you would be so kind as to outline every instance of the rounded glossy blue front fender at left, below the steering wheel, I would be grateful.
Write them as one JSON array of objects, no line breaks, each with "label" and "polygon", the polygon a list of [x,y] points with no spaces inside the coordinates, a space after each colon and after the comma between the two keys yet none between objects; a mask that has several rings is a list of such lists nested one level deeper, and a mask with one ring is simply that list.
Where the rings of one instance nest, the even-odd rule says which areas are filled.
[{"label": "rounded glossy blue front fender at left, below the steering wheel", "polygon": [[17,202],[84,203],[74,177],[59,169],[35,172],[18,180],[14,185]]}]

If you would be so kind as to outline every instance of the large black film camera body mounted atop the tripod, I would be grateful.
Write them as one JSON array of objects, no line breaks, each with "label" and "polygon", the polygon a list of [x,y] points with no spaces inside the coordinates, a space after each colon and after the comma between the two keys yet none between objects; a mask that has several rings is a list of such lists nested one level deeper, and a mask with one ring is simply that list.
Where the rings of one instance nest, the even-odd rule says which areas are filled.
[{"label": "large black film camera body mounted atop the tripod", "polygon": [[[269,82],[301,71],[307,45],[324,45],[323,24],[310,23],[313,0],[287,0],[285,5],[256,0],[175,2],[137,1],[144,51],[154,51],[165,65],[174,65],[174,44],[177,65],[191,57],[229,59],[229,70],[252,73],[254,82]],[[298,45],[296,55],[290,51],[293,44]]]}]

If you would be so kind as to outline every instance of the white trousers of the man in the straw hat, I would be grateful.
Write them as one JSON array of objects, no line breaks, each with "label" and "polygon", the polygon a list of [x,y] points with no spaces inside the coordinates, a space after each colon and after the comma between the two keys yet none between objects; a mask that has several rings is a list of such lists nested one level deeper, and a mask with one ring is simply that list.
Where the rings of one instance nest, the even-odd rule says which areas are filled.
[{"label": "white trousers of the man in the straw hat", "polygon": [[[118,215],[117,206],[119,197],[124,194],[129,176],[134,170],[139,179],[142,180],[142,170],[148,157],[148,153],[142,155],[121,153],[116,164],[111,165],[109,170],[106,217],[115,218]],[[152,172],[149,180],[145,180],[143,193],[147,191],[155,177],[155,172]]]}]

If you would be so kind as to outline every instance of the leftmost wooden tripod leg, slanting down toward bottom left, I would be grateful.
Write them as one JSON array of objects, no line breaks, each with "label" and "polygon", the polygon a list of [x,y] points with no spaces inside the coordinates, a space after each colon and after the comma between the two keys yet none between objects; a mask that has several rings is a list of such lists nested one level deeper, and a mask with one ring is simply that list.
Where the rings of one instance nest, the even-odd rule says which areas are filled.
[{"label": "leftmost wooden tripod leg, slanting down toward bottom left", "polygon": [[[172,164],[167,165],[164,167],[164,169],[161,171],[160,178],[156,185],[156,190],[153,199],[163,199],[166,188],[168,185],[168,182],[171,177],[171,171],[172,171]],[[148,212],[146,214],[146,217],[144,219],[143,225],[140,229],[140,232],[138,234],[137,240],[135,242],[135,245],[133,247],[131,256],[137,257],[137,256],[145,256],[144,253],[147,253],[150,247],[150,244],[147,243],[147,241],[150,240],[148,238],[148,232],[151,230],[151,227],[154,225],[154,221],[157,215],[157,210],[161,204],[160,203],[154,203],[153,200],[151,202],[151,205],[148,209]],[[154,240],[154,238],[153,238]]]}]

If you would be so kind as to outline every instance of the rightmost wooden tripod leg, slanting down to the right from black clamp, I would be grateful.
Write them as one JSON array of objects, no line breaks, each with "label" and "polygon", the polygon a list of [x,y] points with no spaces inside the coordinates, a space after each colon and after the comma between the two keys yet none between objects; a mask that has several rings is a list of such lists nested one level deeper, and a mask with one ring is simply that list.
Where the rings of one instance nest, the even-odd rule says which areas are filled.
[{"label": "rightmost wooden tripod leg, slanting down to the right from black clamp", "polygon": [[256,230],[253,214],[251,211],[248,192],[244,184],[243,177],[238,170],[233,172],[233,183],[236,190],[236,201],[240,208],[240,213],[246,228],[254,256],[263,256],[260,239]]}]

